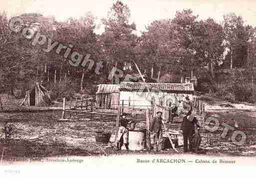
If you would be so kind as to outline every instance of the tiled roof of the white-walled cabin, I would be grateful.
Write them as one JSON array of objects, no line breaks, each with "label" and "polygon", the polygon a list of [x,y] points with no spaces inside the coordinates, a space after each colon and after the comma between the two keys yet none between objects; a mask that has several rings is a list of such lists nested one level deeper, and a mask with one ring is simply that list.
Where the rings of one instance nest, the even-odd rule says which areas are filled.
[{"label": "tiled roof of the white-walled cabin", "polygon": [[[193,83],[147,83],[150,91],[194,92]],[[145,83],[121,82],[120,91],[147,90]]]}]

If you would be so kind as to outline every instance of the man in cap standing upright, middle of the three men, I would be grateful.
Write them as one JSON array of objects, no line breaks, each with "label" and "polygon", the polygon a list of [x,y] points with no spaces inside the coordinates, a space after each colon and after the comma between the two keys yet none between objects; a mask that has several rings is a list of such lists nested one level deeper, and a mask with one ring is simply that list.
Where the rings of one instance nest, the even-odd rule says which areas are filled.
[{"label": "man in cap standing upright, middle of the three men", "polygon": [[153,118],[150,132],[154,136],[154,150],[162,150],[163,134],[162,134],[162,112],[158,111],[157,116]]}]

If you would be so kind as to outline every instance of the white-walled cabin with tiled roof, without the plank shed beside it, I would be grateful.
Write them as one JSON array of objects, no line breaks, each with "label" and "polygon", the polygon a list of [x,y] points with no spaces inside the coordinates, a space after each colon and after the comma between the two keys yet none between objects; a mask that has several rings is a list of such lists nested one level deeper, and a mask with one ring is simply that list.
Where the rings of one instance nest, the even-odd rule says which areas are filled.
[{"label": "white-walled cabin with tiled roof, without the plank shed beside it", "polygon": [[[147,90],[147,87],[149,91]],[[133,83],[121,82],[120,104],[136,108],[150,108],[151,102],[168,107],[178,101],[192,101],[194,94],[193,83]],[[175,100],[175,101],[174,101]]]}]

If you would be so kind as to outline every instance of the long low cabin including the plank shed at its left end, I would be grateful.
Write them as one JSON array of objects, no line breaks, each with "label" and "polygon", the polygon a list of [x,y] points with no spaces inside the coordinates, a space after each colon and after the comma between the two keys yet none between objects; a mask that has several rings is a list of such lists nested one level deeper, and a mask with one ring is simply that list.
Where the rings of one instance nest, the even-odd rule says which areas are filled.
[{"label": "long low cabin including the plank shed at its left end", "polygon": [[[96,108],[118,109],[118,105],[150,108],[151,102],[168,107],[170,103],[193,99],[193,83],[145,83],[121,82],[100,84],[96,92]],[[175,100],[175,101],[174,101]]]}]

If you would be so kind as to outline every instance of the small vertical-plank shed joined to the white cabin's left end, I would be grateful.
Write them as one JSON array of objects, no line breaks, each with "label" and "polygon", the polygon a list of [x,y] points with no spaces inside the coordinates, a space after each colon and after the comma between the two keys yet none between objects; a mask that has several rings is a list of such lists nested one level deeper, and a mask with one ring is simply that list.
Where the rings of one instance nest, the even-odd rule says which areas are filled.
[{"label": "small vertical-plank shed joined to the white cabin's left end", "polygon": [[119,106],[119,84],[97,85],[96,108],[118,109]]}]

